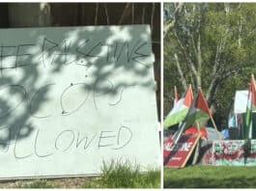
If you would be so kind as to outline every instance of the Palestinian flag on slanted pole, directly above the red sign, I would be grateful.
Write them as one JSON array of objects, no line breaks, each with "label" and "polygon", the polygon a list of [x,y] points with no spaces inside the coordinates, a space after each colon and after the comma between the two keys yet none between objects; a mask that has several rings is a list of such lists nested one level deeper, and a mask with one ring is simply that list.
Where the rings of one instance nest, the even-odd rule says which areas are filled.
[{"label": "Palestinian flag on slanted pole, directly above the red sign", "polygon": [[178,142],[182,133],[187,127],[193,125],[194,123],[209,120],[211,115],[212,113],[208,107],[207,101],[201,89],[198,88],[198,94],[194,98],[192,105],[189,108],[189,111],[185,117],[185,122],[182,124],[182,126],[178,129],[173,137],[174,143],[176,144]]}]

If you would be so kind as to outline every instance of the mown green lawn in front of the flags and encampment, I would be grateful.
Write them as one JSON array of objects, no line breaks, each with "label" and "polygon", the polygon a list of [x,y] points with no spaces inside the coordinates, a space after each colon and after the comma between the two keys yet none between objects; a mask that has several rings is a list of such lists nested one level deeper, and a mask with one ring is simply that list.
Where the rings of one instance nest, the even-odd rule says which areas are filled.
[{"label": "mown green lawn in front of the flags and encampment", "polygon": [[165,188],[256,188],[256,167],[164,168]]}]

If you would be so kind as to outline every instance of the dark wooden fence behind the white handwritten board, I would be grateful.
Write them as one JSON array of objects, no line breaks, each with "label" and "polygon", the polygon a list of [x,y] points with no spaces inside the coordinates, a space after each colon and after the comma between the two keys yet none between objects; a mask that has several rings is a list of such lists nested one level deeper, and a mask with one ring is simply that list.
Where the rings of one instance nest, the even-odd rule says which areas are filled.
[{"label": "dark wooden fence behind the white handwritten board", "polygon": [[159,3],[0,3],[0,28],[150,24],[160,116]]}]

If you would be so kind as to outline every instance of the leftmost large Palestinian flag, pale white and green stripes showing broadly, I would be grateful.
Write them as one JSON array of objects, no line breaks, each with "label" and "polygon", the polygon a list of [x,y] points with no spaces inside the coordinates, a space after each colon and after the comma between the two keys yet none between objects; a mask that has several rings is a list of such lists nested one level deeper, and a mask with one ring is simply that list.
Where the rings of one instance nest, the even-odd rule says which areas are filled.
[{"label": "leftmost large Palestinian flag, pale white and green stripes showing broadly", "polygon": [[163,127],[167,128],[173,124],[181,123],[185,120],[185,115],[188,112],[193,100],[193,92],[191,85],[188,86],[185,95],[174,105],[171,112],[165,118]]}]

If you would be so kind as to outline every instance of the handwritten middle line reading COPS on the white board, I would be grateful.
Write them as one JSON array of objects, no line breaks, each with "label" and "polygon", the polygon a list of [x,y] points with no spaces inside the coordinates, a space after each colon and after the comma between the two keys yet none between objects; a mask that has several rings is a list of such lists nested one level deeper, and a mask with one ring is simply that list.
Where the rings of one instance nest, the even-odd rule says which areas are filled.
[{"label": "handwritten middle line reading COPS on the white board", "polygon": [[[111,84],[111,86],[109,88],[109,91],[104,93],[103,95],[99,95],[98,94],[98,89],[97,89],[97,85],[100,83],[100,79],[96,80],[96,82],[94,84],[93,92],[86,91],[86,86],[87,86],[86,83],[71,83],[67,88],[65,88],[63,90],[63,92],[60,94],[59,97],[56,97],[56,99],[59,99],[59,102],[60,102],[59,107],[62,110],[62,113],[60,115],[69,116],[69,115],[73,114],[74,112],[77,112],[83,106],[86,107],[85,101],[90,96],[91,96],[91,98],[94,102],[95,109],[97,110],[98,109],[97,100],[100,98],[100,96],[111,94],[111,92],[114,90],[113,83],[110,80],[107,80],[107,81]],[[42,88],[40,88],[37,92],[35,92],[33,95],[30,95],[30,96],[28,96],[29,94],[28,94],[26,88],[24,86],[21,86],[21,85],[6,85],[6,86],[3,86],[3,87],[0,87],[0,95],[2,95],[1,93],[5,92],[6,89],[8,89],[10,92],[17,92],[22,97],[19,100],[19,102],[17,102],[13,106],[11,106],[8,110],[1,109],[1,106],[0,106],[0,109],[1,109],[0,110],[0,119],[11,115],[12,112],[14,112],[15,109],[17,109],[20,105],[22,105],[22,103],[25,103],[26,101],[29,102],[29,112],[30,112],[31,117],[37,118],[37,119],[43,119],[43,118],[51,117],[52,116],[52,111],[48,111],[48,113],[44,116],[39,116],[39,115],[34,114],[35,111],[37,110],[37,109],[35,109],[36,106],[34,106],[34,105],[38,104],[37,103],[37,98],[41,96],[41,92],[43,92],[44,89],[48,88],[49,86],[54,86],[54,85],[55,85],[54,83],[46,84]],[[121,91],[119,92],[119,95],[117,95],[117,97],[118,97],[117,100],[114,101],[114,102],[108,102],[107,104],[110,107],[118,105],[122,101],[124,91],[126,89],[132,88],[132,87],[135,87],[135,85],[129,85],[126,88],[122,87]],[[77,103],[77,105],[73,105],[72,106],[73,108],[68,109],[66,107],[64,96],[69,96],[72,89],[74,89],[74,91],[75,91],[75,89],[85,89],[84,90],[84,98],[81,100],[81,102]],[[31,98],[28,99],[28,97],[31,97]]]}]

